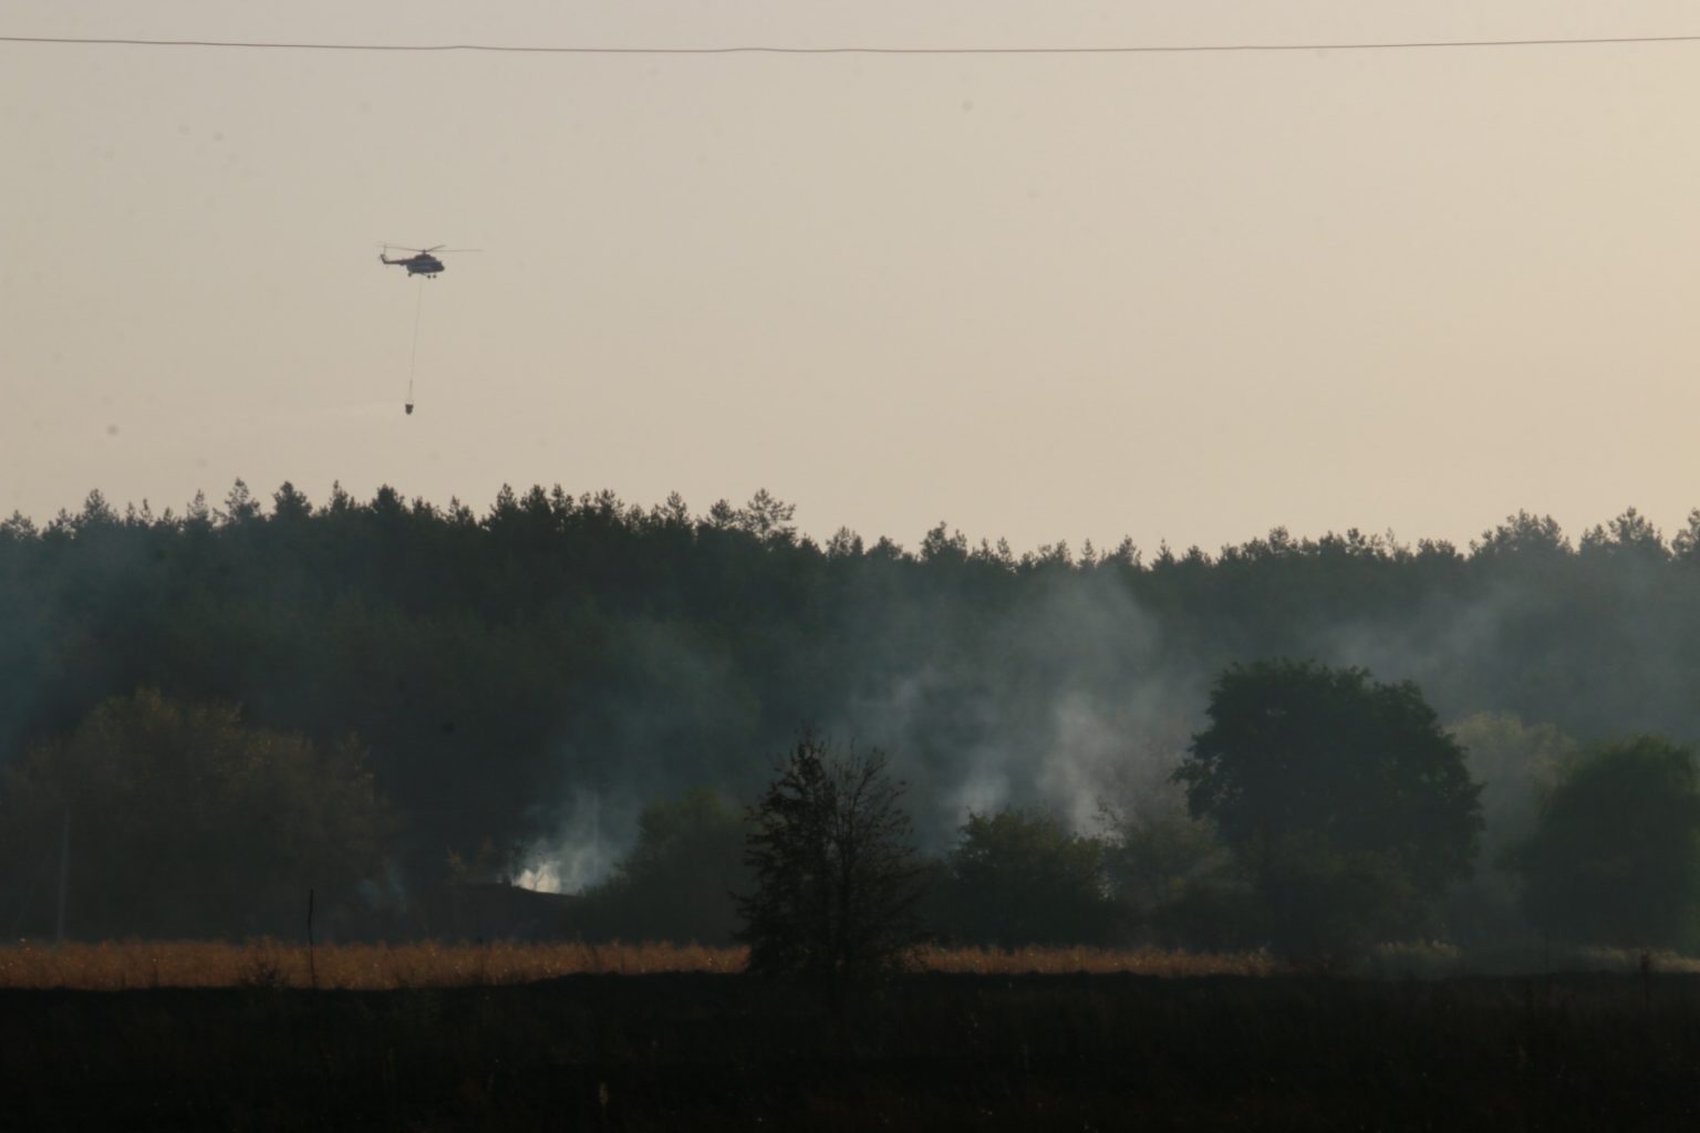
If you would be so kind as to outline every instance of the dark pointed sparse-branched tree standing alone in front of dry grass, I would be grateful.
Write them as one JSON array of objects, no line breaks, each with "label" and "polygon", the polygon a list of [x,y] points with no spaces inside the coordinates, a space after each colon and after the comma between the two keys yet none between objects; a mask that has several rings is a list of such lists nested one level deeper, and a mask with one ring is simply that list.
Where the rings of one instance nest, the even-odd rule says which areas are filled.
[{"label": "dark pointed sparse-branched tree standing alone in front of dry grass", "polygon": [[879,751],[835,756],[809,734],[790,749],[748,817],[750,972],[840,992],[904,963],[920,943],[920,865],[903,790]]}]

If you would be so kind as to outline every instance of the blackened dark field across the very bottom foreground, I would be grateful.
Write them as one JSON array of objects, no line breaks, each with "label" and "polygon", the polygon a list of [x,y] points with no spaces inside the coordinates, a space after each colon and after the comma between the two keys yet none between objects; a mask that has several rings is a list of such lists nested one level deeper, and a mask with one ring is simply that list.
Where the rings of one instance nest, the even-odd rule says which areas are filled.
[{"label": "blackened dark field across the very bottom foreground", "polygon": [[1700,978],[0,992],[10,1128],[1678,1130]]}]

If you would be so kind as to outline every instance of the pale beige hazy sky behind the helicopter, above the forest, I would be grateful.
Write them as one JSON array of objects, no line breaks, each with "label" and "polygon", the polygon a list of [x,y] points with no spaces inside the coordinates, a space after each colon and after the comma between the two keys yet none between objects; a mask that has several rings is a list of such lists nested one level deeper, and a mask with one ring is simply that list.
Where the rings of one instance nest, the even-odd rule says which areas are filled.
[{"label": "pale beige hazy sky behind the helicopter, above the forest", "polygon": [[[1676,0],[0,7],[0,34],[605,46],[1695,32]],[[479,510],[767,486],[911,547],[1464,542],[1629,504],[1669,533],[1700,506],[1695,105],[1700,42],[0,44],[0,515],[240,476]],[[483,251],[422,284],[382,240]]]}]

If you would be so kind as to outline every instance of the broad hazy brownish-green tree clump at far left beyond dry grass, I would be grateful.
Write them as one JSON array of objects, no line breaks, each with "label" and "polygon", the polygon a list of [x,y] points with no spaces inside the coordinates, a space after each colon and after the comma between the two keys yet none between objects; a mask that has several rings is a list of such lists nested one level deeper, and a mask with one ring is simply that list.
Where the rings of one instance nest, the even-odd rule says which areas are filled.
[{"label": "broad hazy brownish-green tree clump at far left beyond dry grass", "polygon": [[[294,934],[379,875],[391,819],[352,739],[246,727],[226,703],[153,690],[102,702],[0,773],[0,877],[56,916],[75,831],[70,917],[88,936]],[[17,921],[14,921],[15,924]]]}]

